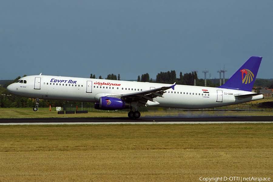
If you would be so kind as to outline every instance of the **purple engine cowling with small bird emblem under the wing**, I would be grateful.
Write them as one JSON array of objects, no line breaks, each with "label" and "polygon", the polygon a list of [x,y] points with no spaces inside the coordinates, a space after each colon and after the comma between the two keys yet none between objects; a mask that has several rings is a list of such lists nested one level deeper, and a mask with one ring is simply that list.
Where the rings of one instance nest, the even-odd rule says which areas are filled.
[{"label": "purple engine cowling with small bird emblem under the wing", "polygon": [[99,110],[119,110],[129,109],[130,107],[129,101],[115,97],[100,97],[99,103],[94,103],[94,108]]}]

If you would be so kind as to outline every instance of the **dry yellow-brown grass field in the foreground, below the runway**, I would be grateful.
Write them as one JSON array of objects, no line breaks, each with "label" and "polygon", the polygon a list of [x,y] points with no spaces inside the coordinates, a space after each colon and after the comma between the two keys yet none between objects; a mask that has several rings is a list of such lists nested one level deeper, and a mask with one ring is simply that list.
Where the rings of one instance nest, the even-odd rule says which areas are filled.
[{"label": "dry yellow-brown grass field in the foreground, below the runway", "polygon": [[273,179],[272,124],[30,125],[0,133],[0,181]]}]

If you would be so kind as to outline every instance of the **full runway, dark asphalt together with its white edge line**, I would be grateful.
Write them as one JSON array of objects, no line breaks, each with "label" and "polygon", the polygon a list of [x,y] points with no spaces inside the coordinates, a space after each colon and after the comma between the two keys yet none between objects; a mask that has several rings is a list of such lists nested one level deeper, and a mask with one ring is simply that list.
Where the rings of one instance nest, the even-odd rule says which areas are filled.
[{"label": "full runway, dark asphalt together with its white edge line", "polygon": [[273,123],[273,116],[206,116],[206,117],[127,117],[109,118],[5,118],[0,125],[44,124],[203,124],[203,123]]}]

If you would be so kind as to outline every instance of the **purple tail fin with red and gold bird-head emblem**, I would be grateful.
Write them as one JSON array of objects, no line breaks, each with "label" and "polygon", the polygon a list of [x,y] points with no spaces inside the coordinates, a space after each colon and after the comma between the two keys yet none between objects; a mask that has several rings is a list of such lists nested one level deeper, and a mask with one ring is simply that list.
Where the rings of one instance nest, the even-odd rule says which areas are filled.
[{"label": "purple tail fin with red and gold bird-head emblem", "polygon": [[245,62],[244,65],[241,66],[241,68],[238,69],[238,71],[235,72],[224,85],[219,86],[218,88],[251,92],[261,64],[261,59],[262,57],[255,56],[249,58],[247,62]]}]

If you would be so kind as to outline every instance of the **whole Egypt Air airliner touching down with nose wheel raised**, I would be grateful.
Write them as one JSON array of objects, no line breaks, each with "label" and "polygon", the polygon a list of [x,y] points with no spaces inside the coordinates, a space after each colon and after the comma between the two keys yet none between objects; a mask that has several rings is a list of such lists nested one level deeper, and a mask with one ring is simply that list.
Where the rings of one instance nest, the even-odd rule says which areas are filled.
[{"label": "whole Egypt Air airliner touching down with nose wheel raised", "polygon": [[[251,92],[262,57],[250,57],[228,81],[217,88],[135,81],[88,79],[62,76],[25,76],[7,87],[9,93],[36,99],[93,102],[98,110],[130,109],[138,119],[138,107],[204,109],[263,99]],[[133,111],[133,109],[135,111]]]}]

